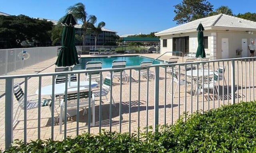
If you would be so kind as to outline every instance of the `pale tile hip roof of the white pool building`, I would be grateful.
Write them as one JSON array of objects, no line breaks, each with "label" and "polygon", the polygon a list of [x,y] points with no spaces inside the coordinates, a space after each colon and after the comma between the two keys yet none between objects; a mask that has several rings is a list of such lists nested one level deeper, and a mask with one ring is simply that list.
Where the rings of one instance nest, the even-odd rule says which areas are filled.
[{"label": "pale tile hip roof of the white pool building", "polygon": [[180,32],[194,32],[199,23],[202,23],[205,30],[211,29],[226,29],[236,28],[245,30],[256,30],[256,22],[229,16],[226,14],[218,14],[215,16],[209,16],[206,18],[197,19],[186,24],[182,24],[167,30],[163,30],[155,33],[156,36],[163,36],[168,34],[176,34]]}]

